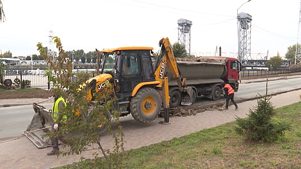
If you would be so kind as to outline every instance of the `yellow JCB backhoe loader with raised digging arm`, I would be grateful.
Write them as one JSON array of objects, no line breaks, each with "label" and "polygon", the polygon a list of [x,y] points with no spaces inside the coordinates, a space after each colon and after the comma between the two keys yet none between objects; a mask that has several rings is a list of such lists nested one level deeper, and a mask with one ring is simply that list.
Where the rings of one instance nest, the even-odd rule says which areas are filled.
[{"label": "yellow JCB backhoe loader with raised digging arm", "polygon": [[[167,64],[177,80],[182,97],[181,104],[191,105],[193,90],[187,87],[185,78],[181,76],[168,38],[162,38],[159,46],[160,55],[156,57],[154,63],[151,60],[152,47],[104,49],[101,55],[103,63],[100,74],[87,81],[90,87],[90,101],[96,101],[94,92],[101,92],[106,83],[111,83],[109,91],[118,98],[114,109],[123,108],[121,116],[131,113],[135,120],[149,123],[158,116],[162,108],[169,108],[168,79],[165,77]],[[45,115],[39,111],[38,113]],[[106,115],[109,116],[109,112]],[[45,118],[40,119],[43,123]]]}]

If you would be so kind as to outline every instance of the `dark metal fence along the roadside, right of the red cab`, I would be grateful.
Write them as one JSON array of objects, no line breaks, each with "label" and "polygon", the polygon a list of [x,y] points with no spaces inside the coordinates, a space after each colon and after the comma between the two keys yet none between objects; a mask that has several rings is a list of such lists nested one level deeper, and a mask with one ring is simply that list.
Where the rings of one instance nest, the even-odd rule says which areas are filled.
[{"label": "dark metal fence along the roadside, right of the red cab", "polygon": [[290,74],[301,72],[301,68],[290,68],[290,69],[273,69],[273,70],[242,70],[241,77],[260,77],[260,76],[275,76],[281,74]]}]

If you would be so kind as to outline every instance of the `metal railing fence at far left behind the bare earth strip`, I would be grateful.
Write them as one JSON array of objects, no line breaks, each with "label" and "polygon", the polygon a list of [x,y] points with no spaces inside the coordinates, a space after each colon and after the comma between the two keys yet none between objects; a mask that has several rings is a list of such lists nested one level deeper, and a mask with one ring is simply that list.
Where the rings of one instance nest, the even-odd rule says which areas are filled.
[{"label": "metal railing fence at far left behind the bare earth strip", "polygon": [[[93,71],[85,71],[89,74],[90,77],[94,77],[96,75]],[[77,73],[74,73],[72,76],[72,81],[77,81]],[[39,73],[31,73],[27,71],[8,71],[4,74],[4,80],[11,80],[12,84],[9,87],[5,87],[5,89],[24,89],[24,88],[40,88],[50,90],[53,87],[53,82],[48,82],[49,77],[45,72],[41,71]],[[8,81],[6,81],[8,82]],[[0,88],[1,90],[1,88]]]}]

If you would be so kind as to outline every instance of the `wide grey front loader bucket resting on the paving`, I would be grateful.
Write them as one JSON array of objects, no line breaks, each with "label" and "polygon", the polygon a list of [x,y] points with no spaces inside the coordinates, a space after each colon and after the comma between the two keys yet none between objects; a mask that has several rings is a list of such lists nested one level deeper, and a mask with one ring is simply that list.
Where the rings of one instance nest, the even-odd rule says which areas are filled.
[{"label": "wide grey front loader bucket resting on the paving", "polygon": [[36,103],[33,103],[33,110],[35,114],[23,134],[39,148],[49,147],[51,146],[50,139],[42,138],[42,135],[49,131],[49,127],[53,123],[51,111]]}]

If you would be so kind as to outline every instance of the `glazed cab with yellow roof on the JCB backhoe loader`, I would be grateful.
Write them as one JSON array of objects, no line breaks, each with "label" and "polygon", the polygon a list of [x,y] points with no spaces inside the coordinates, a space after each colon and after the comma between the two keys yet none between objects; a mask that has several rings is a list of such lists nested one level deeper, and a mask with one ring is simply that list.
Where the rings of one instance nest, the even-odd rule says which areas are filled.
[{"label": "glazed cab with yellow roof on the JCB backhoe loader", "polygon": [[152,47],[144,46],[103,50],[104,61],[101,73],[114,75],[113,79],[116,84],[119,84],[116,94],[120,98],[131,97],[137,84],[155,81],[151,50]]}]

